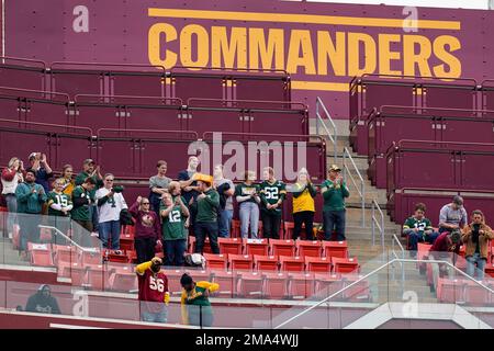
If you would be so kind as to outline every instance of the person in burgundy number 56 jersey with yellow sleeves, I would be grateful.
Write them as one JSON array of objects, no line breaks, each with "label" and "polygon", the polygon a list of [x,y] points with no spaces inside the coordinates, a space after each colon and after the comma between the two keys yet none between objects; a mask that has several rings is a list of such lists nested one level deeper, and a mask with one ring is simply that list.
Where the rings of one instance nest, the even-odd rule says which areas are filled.
[{"label": "person in burgundy number 56 jersey with yellow sleeves", "polygon": [[150,322],[167,322],[170,293],[168,278],[161,270],[161,259],[155,257],[137,264],[135,272],[138,280],[138,299],[141,320]]}]

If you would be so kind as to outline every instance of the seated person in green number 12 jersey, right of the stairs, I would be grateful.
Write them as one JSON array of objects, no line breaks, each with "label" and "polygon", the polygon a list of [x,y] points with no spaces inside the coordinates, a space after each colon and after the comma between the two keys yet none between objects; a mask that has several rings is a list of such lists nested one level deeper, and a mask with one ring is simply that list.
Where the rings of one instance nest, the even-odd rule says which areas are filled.
[{"label": "seated person in green number 12 jersey, right of the stairs", "polygon": [[434,231],[430,220],[425,217],[425,204],[416,204],[414,215],[408,217],[403,225],[403,234],[408,236],[408,249],[413,257],[417,254],[418,242],[434,244],[439,236]]}]

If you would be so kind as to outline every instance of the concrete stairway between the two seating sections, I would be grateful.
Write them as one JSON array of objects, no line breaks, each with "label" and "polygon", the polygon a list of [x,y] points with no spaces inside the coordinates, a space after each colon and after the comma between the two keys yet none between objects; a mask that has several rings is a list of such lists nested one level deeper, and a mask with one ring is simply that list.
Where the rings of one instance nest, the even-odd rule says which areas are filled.
[{"label": "concrete stairway between the two seating sections", "polygon": [[[360,267],[361,274],[370,273],[371,271],[378,269],[382,264],[389,262],[394,258],[392,254],[392,242],[393,235],[400,239],[403,247],[406,245],[406,239],[401,237],[401,225],[391,222],[390,217],[386,215],[386,190],[377,189],[372,186],[369,179],[367,178],[368,169],[368,158],[366,156],[359,156],[355,154],[349,145],[348,140],[348,123],[346,121],[336,121],[338,127],[337,136],[337,154],[336,165],[341,169],[344,168],[344,149],[347,148],[353,159],[358,171],[364,181],[364,226],[362,227],[362,211],[361,211],[361,197],[358,194],[356,184],[350,179],[350,174],[360,186],[360,180],[357,176],[351,162],[347,159],[347,165],[349,168],[349,173],[346,174],[346,182],[350,190],[350,196],[346,201],[347,206],[347,217],[346,217],[346,237],[348,241],[348,250],[350,256],[357,257]],[[328,129],[329,126],[328,126]],[[311,121],[311,135],[316,135],[315,121]],[[321,134],[323,133],[323,134]],[[324,137],[324,128],[319,127],[319,135]],[[334,159],[334,148],[333,144],[328,138],[326,138],[326,156],[328,167],[335,163]],[[384,214],[384,249],[381,246],[381,235],[379,229],[375,227],[375,241],[372,245],[372,230],[371,230],[371,218],[372,200],[375,200]],[[375,211],[375,216],[378,223],[380,223],[381,217]],[[396,253],[400,252],[397,247],[395,248]],[[405,251],[405,258],[408,258],[408,251]],[[369,284],[372,290],[372,302],[374,303],[386,303],[389,301],[403,302],[403,293],[417,296],[419,303],[437,303],[436,294],[430,292],[427,284],[426,276],[419,273],[419,270],[415,263],[404,264],[405,283],[402,288],[401,282],[401,264],[397,263],[394,268],[386,268],[382,272],[375,273],[369,278]],[[391,272],[394,272],[394,276],[390,278]]]}]

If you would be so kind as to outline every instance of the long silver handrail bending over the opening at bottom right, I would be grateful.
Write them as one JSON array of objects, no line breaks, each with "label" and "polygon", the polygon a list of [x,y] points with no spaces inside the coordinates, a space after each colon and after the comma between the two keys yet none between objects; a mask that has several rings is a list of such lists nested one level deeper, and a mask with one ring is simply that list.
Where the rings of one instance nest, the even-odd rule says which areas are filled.
[{"label": "long silver handrail bending over the opening at bottom right", "polygon": [[412,259],[393,259],[384,264],[382,264],[381,267],[377,268],[375,270],[373,270],[372,272],[361,276],[360,279],[358,279],[357,281],[355,281],[353,283],[345,286],[344,288],[337,291],[336,293],[333,293],[332,295],[329,295],[326,298],[323,298],[322,301],[319,301],[318,303],[312,305],[311,307],[307,307],[306,309],[302,310],[301,313],[296,314],[295,316],[289,318],[288,320],[283,321],[282,324],[276,326],[273,329],[279,329],[285,325],[288,325],[289,322],[295,320],[296,318],[305,315],[306,313],[311,312],[312,309],[327,303],[329,299],[332,299],[335,296],[338,296],[339,294],[341,294],[343,292],[345,292],[346,290],[352,287],[353,285],[357,285],[358,283],[360,283],[361,281],[368,279],[369,276],[378,273],[379,271],[385,269],[386,267],[395,263],[395,262],[402,262],[402,263],[439,263],[439,264],[446,264],[451,267],[453,270],[458,271],[459,273],[461,273],[462,275],[467,276],[467,279],[469,279],[470,281],[474,282],[475,284],[480,285],[481,287],[483,287],[484,290],[489,291],[491,294],[494,294],[494,291],[484,285],[482,282],[476,281],[475,279],[473,279],[472,276],[468,275],[465,272],[463,272],[462,270],[460,270],[459,268],[454,267],[453,264],[451,264],[448,261],[442,261],[442,260],[412,260]]}]

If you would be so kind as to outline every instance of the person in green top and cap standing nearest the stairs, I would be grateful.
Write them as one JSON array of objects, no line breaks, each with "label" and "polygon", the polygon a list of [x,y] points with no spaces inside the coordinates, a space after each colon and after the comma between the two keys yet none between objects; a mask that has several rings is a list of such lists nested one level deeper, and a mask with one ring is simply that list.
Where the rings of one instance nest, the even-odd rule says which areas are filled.
[{"label": "person in green top and cap standing nearest the stairs", "polygon": [[344,241],[345,237],[345,199],[350,196],[348,186],[341,177],[341,169],[332,165],[321,188],[324,199],[324,239],[332,240],[333,230],[336,230],[336,240]]}]

